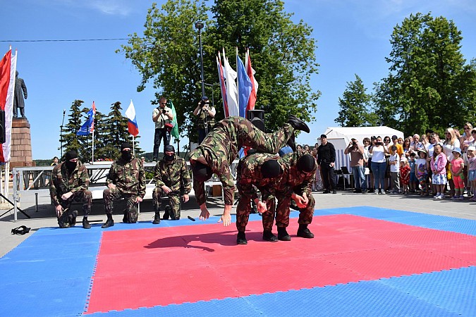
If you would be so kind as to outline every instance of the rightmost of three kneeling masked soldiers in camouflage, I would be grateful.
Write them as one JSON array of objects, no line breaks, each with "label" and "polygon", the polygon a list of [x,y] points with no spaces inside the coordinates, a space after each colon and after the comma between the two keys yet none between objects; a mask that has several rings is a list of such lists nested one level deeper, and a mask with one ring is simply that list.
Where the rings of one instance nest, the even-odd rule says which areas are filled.
[{"label": "rightmost of three kneeling masked soldiers in camouflage", "polygon": [[162,196],[168,196],[170,199],[171,210],[165,211],[164,219],[180,219],[181,197],[183,202],[187,202],[188,193],[192,190],[190,182],[190,172],[188,171],[185,160],[175,155],[173,145],[166,145],[164,158],[157,163],[154,171],[155,188],[152,193],[154,199],[154,223],[160,223],[160,206]]}]

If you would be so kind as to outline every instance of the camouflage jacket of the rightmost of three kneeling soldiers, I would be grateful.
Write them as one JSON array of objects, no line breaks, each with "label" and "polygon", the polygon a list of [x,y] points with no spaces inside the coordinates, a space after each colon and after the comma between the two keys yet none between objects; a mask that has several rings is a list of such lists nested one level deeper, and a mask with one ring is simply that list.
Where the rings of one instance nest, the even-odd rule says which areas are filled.
[{"label": "camouflage jacket of the rightmost of three kneeling soldiers", "polygon": [[166,185],[172,189],[171,194],[188,194],[192,190],[190,172],[184,159],[175,156],[172,162],[161,159],[154,169],[154,182],[156,187]]}]

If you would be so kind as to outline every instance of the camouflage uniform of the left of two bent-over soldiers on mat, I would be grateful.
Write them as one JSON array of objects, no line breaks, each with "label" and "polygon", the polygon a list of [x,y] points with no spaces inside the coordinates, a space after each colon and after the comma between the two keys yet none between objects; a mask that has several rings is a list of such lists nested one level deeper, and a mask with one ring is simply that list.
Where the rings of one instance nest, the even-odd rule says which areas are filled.
[{"label": "camouflage uniform of the left of two bent-over soldiers on mat", "polygon": [[[240,193],[240,200],[236,207],[236,229],[244,232],[248,224],[251,206],[250,201],[258,198],[257,189],[262,193],[262,201],[266,201],[267,212],[263,213],[263,229],[271,231],[274,220],[274,212],[276,211],[276,199],[274,199],[274,189],[281,183],[281,176],[278,178],[263,178],[261,166],[264,162],[276,160],[281,163],[278,155],[256,153],[245,156],[240,159],[238,168],[236,169],[236,187]],[[281,164],[283,167],[283,164]],[[284,190],[284,189],[283,189]],[[268,216],[271,214],[272,216]],[[269,225],[271,218],[271,225]]]}]

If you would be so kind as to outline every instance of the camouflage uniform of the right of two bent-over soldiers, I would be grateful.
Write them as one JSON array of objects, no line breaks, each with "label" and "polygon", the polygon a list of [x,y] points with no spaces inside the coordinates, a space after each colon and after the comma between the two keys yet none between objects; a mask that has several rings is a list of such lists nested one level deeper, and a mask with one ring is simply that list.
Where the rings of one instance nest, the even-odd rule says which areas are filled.
[{"label": "camouflage uniform of the right of two bent-over soldiers", "polygon": [[[317,165],[310,173],[301,173],[295,164],[300,156],[287,154],[283,156],[286,168],[279,189],[276,190],[278,206],[276,207],[276,227],[287,228],[289,225],[289,206],[293,192],[300,196],[305,192],[309,202],[305,208],[299,209],[300,225],[309,225],[314,216],[315,199],[312,197],[312,180],[315,177]],[[286,182],[286,183],[283,183]],[[289,190],[291,188],[291,190]],[[264,219],[263,219],[264,221]],[[269,221],[269,220],[268,220]],[[271,220],[272,225],[272,220]]]}]

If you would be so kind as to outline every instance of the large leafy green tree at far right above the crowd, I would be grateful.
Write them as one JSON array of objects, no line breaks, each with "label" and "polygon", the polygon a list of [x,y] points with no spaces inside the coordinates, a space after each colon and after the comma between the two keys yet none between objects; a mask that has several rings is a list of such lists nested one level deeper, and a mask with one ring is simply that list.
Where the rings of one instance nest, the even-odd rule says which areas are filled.
[{"label": "large leafy green tree at far right above the crowd", "polygon": [[429,13],[394,27],[390,73],[375,84],[374,110],[382,124],[410,135],[474,120],[475,72],[460,53],[462,39],[452,20]]}]

